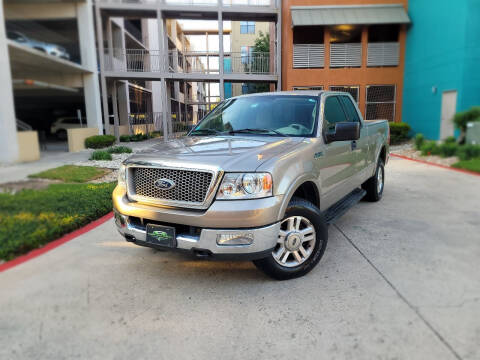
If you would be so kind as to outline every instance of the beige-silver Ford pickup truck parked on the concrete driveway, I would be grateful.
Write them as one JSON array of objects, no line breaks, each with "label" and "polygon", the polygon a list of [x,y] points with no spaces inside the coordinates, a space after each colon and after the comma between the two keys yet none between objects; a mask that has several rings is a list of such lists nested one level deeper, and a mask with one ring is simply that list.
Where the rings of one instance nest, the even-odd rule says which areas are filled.
[{"label": "beige-silver Ford pickup truck parked on the concrete driveway", "polygon": [[124,162],[115,223],[137,245],[302,276],[322,257],[328,224],[380,200],[388,151],[388,122],[364,121],[349,94],[234,97],[181,140]]}]

